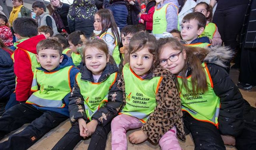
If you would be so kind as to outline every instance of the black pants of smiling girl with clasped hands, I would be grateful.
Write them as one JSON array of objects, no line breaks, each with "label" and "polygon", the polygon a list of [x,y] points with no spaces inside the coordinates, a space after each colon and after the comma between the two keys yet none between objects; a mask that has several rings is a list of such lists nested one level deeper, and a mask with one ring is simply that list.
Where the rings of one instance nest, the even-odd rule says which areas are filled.
[{"label": "black pants of smiling girl with clasped hands", "polygon": [[[104,150],[106,147],[107,136],[111,130],[111,122],[106,126],[98,125],[95,132],[91,135],[91,141],[88,150]],[[80,136],[79,125],[72,126],[69,131],[59,140],[52,150],[70,150],[74,149],[77,143],[82,140]]]}]

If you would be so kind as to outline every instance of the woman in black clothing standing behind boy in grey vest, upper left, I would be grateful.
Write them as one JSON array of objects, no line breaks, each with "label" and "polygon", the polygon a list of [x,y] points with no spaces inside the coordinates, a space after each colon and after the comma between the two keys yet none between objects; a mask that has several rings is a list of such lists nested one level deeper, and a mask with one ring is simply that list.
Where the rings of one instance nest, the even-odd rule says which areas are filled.
[{"label": "woman in black clothing standing behind boy in grey vest, upper left", "polygon": [[57,25],[58,32],[61,33],[62,29],[65,29],[68,34],[70,33],[68,28],[68,10],[69,4],[62,3],[60,0],[51,0],[51,4],[54,7],[54,12],[51,15]]}]

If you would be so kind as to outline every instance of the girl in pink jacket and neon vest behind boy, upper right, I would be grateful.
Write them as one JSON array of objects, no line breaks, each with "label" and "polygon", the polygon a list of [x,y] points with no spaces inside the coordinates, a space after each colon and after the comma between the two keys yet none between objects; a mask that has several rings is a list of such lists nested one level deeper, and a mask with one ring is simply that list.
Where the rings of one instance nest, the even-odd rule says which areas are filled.
[{"label": "girl in pink jacket and neon vest behind boy, upper right", "polygon": [[207,19],[205,30],[201,35],[199,35],[199,37],[201,38],[203,36],[207,36],[212,46],[221,45],[222,40],[221,35],[218,32],[218,28],[216,24],[211,22],[213,18],[213,11],[210,5],[208,5],[206,2],[200,2],[194,8],[194,12],[201,12]]}]

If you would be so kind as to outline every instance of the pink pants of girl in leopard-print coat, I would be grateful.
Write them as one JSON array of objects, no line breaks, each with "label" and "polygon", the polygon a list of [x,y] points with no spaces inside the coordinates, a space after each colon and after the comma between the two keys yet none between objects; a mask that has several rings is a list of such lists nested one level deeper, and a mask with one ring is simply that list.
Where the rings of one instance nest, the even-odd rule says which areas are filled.
[{"label": "pink pants of girl in leopard-print coat", "polygon": [[[121,114],[116,116],[111,122],[112,150],[127,150],[126,130],[136,129],[143,126],[143,123],[132,116]],[[176,126],[166,132],[159,140],[162,150],[181,150],[176,138]]]}]

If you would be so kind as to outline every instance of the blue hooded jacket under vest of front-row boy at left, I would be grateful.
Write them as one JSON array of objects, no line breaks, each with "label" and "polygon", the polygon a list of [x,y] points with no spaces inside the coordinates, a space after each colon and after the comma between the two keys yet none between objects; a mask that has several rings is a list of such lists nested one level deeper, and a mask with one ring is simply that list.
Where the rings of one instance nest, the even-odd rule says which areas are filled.
[{"label": "blue hooded jacket under vest of front-row boy at left", "polygon": [[[63,54],[64,58],[62,60],[62,62],[60,63],[60,65],[55,68],[54,70],[52,71],[47,71],[46,69],[44,69],[43,67],[38,67],[37,69],[38,70],[42,70],[44,72],[55,72],[55,71],[60,71],[61,69],[65,68],[65,67],[68,67],[68,66],[74,66],[74,63],[72,61],[72,59],[70,57],[68,57],[67,55]],[[79,70],[75,67],[72,67],[70,69],[70,72],[69,72],[69,83],[70,83],[70,87],[73,87],[74,86],[74,80],[75,80],[75,77],[76,77],[76,74],[79,72]],[[61,78],[61,76],[60,76]],[[68,112],[68,97],[70,96],[70,93],[67,94],[64,98],[63,98],[63,103],[65,103],[65,107],[63,108],[51,108],[51,107],[39,107],[37,105],[34,105],[34,107],[36,107],[37,109],[39,110],[50,110],[50,111],[54,111],[54,112],[58,112],[60,114],[63,114],[65,116],[69,116],[69,112]]]}]

